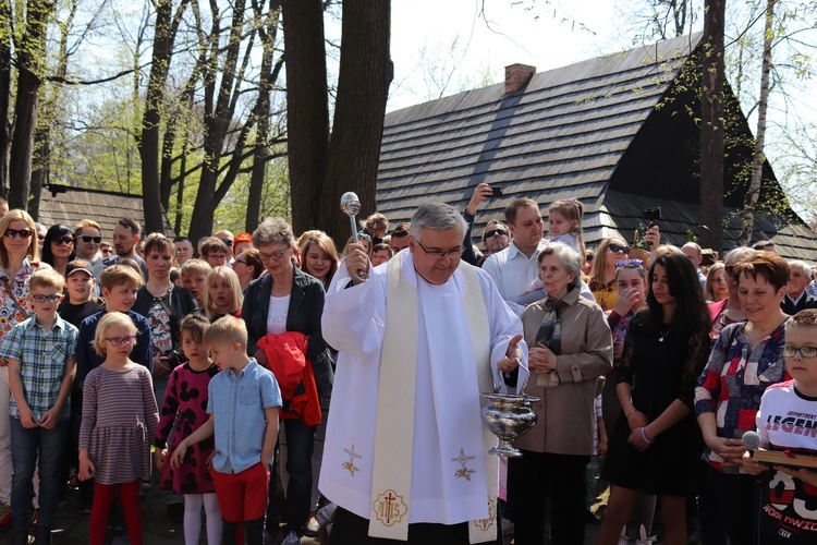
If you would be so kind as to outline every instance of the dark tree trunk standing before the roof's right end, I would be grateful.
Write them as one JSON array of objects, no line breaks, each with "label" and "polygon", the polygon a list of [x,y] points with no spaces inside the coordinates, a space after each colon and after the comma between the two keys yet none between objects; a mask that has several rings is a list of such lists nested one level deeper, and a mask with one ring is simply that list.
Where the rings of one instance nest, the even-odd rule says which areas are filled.
[{"label": "dark tree trunk standing before the roof's right end", "polygon": [[725,0],[706,0],[702,50],[700,220],[723,247],[723,28]]}]

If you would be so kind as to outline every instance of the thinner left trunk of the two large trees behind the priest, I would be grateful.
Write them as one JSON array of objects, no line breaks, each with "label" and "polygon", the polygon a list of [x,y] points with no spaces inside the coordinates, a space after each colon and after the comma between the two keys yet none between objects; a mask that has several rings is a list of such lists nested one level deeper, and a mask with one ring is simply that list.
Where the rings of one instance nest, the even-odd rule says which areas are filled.
[{"label": "thinner left trunk of the two large trees behind the priest", "polygon": [[[363,33],[363,29],[355,32]],[[318,223],[318,194],[329,154],[329,92],[321,0],[283,1],[286,132],[295,232]]]}]

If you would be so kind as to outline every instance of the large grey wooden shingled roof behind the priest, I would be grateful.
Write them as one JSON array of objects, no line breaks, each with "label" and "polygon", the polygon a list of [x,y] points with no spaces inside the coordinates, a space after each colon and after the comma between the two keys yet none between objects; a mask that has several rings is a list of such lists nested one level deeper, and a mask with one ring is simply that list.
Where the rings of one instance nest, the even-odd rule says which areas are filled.
[{"label": "large grey wooden shingled roof behind the priest", "polygon": [[[486,182],[502,187],[503,196],[480,205],[475,240],[514,198],[533,198],[547,214],[553,201],[575,197],[585,208],[590,247],[612,234],[632,241],[642,209],[654,206],[664,210],[666,240],[685,242],[686,230],[697,226],[700,135],[688,116],[673,112],[697,108],[697,98],[675,92],[669,106],[657,105],[692,62],[699,39],[684,36],[536,73],[513,93],[500,83],[387,114],[378,211],[393,225],[408,221],[424,202],[463,209]],[[747,132],[740,117],[737,130]],[[768,165],[765,178],[777,184]],[[725,206],[739,206],[739,193]],[[729,216],[727,247],[739,230]],[[817,257],[814,233],[793,214],[784,221],[761,217],[757,231],[755,240],[782,237],[776,242],[789,256]]]}]

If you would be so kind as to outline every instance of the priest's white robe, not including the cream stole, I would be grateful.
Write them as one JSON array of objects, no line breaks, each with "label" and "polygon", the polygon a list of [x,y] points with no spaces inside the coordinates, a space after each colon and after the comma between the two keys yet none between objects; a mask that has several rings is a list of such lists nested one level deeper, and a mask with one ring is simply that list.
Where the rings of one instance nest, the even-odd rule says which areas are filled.
[{"label": "priest's white robe, not including the cream stole", "polygon": [[[490,362],[504,358],[510,339],[522,332],[522,323],[503,303],[488,276],[476,269],[488,311],[491,334]],[[368,282],[344,289],[349,274],[341,262],[329,287],[321,319],[324,339],[340,350],[334,376],[320,472],[320,492],[331,501],[368,519],[371,510],[373,460],[379,368],[386,334],[387,267],[370,270]],[[475,458],[468,469],[481,479],[458,479],[461,463],[454,461],[463,445],[481,444],[481,427],[465,428],[463,408],[478,407],[476,367],[471,336],[462,305],[465,284],[462,272],[442,286],[423,280],[411,255],[403,274],[418,290],[417,383],[412,447],[412,497],[408,522],[456,524],[487,518],[486,452],[464,452]],[[523,365],[517,385],[527,379],[527,348],[520,342]],[[473,375],[474,380],[468,377]],[[472,384],[472,388],[464,385]],[[504,387],[504,386],[503,386]],[[519,389],[517,389],[519,390]],[[468,417],[473,416],[468,412]],[[476,434],[475,438],[472,434]],[[466,435],[467,434],[467,435]],[[474,474],[476,476],[476,474]]]}]

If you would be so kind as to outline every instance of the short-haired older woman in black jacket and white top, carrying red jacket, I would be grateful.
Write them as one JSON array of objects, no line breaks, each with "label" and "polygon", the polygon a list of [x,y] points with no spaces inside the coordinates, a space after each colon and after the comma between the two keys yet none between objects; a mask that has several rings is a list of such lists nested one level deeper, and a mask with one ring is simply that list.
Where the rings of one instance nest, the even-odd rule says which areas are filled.
[{"label": "short-haired older woman in black jacket and white top, carrying red jacket", "polygon": [[[320,330],[326,298],[322,282],[295,267],[295,238],[283,219],[266,219],[253,233],[253,245],[258,249],[269,275],[253,281],[244,294],[241,317],[247,324],[249,355],[268,366],[265,351],[258,348],[259,341],[268,334],[303,334],[308,338],[307,372],[312,366],[317,395],[329,396],[332,389],[331,356]],[[305,383],[301,382],[295,395],[304,390]],[[283,512],[284,535],[294,533],[297,537],[304,534],[309,519],[312,482],[313,477],[317,479],[313,475],[310,460],[319,422],[307,423],[303,416],[284,419],[286,472],[290,475]],[[276,479],[272,476],[271,482],[276,483]]]}]

